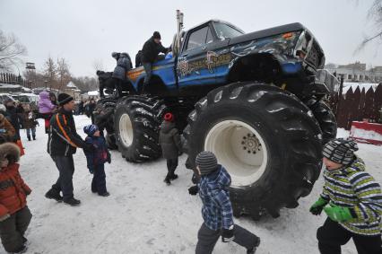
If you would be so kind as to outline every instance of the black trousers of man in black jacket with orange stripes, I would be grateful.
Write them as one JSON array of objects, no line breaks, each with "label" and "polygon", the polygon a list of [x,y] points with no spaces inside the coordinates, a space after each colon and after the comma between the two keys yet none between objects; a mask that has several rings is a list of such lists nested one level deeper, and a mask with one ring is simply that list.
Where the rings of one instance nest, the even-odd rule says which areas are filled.
[{"label": "black trousers of man in black jacket with orange stripes", "polygon": [[52,186],[58,193],[63,192],[64,201],[74,197],[73,195],[73,174],[74,174],[74,161],[73,155],[69,156],[52,156],[53,161],[59,171],[58,179]]}]

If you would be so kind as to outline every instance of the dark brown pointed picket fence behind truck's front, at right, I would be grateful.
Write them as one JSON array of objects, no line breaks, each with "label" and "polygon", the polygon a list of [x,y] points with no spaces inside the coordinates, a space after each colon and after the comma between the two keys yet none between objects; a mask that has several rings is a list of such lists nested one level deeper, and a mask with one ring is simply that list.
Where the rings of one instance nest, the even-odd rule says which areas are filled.
[{"label": "dark brown pointed picket fence behind truck's front, at right", "polygon": [[352,121],[367,118],[370,122],[378,122],[381,118],[379,110],[382,107],[382,83],[375,90],[372,87],[367,91],[365,87],[351,87],[339,99],[339,93],[334,93],[329,98],[338,127],[349,130]]}]

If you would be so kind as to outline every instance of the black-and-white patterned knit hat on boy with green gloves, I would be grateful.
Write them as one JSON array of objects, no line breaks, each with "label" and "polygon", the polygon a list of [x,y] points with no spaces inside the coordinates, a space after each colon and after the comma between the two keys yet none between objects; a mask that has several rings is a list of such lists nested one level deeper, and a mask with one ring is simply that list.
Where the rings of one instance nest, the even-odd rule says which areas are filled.
[{"label": "black-and-white patterned knit hat on boy with green gloves", "polygon": [[347,165],[353,160],[358,145],[352,139],[336,138],[324,145],[323,155],[332,162]]}]

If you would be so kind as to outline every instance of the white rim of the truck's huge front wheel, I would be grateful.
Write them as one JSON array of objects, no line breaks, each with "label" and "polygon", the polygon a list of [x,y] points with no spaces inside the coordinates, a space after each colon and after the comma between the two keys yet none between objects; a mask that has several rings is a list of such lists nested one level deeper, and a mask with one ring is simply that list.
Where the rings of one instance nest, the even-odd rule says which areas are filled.
[{"label": "white rim of the truck's huge front wheel", "polygon": [[215,153],[229,171],[232,188],[254,184],[265,173],[267,148],[255,128],[239,120],[225,120],[210,129],[204,150]]}]

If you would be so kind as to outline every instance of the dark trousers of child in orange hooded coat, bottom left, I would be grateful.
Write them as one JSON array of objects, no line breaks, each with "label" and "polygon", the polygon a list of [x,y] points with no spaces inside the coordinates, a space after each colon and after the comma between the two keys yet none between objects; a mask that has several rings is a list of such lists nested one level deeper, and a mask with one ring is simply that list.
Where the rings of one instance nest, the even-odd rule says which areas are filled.
[{"label": "dark trousers of child in orange hooded coat, bottom left", "polygon": [[0,223],[0,238],[4,249],[8,252],[16,252],[24,245],[23,236],[30,224],[32,215],[28,206],[11,215]]}]

